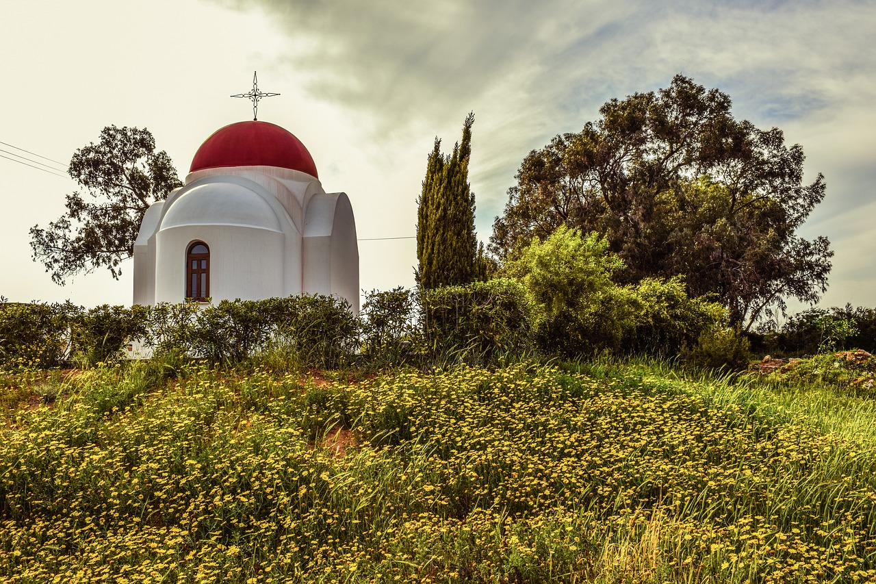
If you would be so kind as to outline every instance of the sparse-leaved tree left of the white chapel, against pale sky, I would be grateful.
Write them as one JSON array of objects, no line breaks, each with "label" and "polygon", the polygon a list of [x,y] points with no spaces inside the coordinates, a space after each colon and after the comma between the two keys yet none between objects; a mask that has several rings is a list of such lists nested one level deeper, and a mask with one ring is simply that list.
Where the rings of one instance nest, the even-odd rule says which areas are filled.
[{"label": "sparse-leaved tree left of the white chapel, against pale sky", "polygon": [[118,279],[146,209],[182,186],[177,170],[148,130],[110,125],[74,153],[67,172],[83,191],[67,195],[67,212],[46,229],[31,228],[33,259],[62,286],[97,267]]}]

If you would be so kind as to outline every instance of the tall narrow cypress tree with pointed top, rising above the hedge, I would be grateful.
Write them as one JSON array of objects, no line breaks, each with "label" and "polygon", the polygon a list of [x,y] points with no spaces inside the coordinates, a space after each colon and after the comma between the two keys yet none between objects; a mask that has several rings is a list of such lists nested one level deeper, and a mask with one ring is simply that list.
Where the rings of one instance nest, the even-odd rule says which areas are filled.
[{"label": "tall narrow cypress tree with pointed top, rising above the hedge", "polygon": [[[463,141],[453,153],[441,152],[436,138],[429,153],[423,190],[417,200],[417,282],[421,288],[467,284],[484,272],[475,234],[475,196],[469,184],[471,155],[470,113],[463,124]],[[480,257],[480,260],[478,258]]]}]

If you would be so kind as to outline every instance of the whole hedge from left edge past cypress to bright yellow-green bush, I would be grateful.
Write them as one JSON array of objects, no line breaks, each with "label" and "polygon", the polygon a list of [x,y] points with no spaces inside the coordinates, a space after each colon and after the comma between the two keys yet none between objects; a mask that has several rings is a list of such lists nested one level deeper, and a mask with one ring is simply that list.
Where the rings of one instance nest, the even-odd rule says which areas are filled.
[{"label": "whole hedge from left edge past cypress to bright yellow-green bush", "polygon": [[529,322],[524,291],[510,280],[439,288],[421,299],[405,288],[374,291],[358,317],[346,301],[320,295],[90,310],[69,302],[4,302],[0,365],[93,367],[120,359],[136,341],[156,357],[216,364],[258,354],[298,367],[353,361],[428,367],[519,352],[528,342]]}]

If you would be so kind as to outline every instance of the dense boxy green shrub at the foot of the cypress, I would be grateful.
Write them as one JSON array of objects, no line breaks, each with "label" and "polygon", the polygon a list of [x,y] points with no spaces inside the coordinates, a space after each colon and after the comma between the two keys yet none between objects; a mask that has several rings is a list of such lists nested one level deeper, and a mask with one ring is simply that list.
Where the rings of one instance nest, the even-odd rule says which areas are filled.
[{"label": "dense boxy green shrub at the foot of the cypress", "polygon": [[492,363],[529,349],[526,290],[498,278],[423,292],[423,330],[432,364]]}]

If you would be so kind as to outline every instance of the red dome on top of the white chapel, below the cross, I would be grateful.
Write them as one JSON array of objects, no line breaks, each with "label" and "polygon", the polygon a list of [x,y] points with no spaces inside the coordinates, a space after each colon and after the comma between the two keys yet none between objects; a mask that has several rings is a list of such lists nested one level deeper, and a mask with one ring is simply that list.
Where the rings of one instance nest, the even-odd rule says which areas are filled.
[{"label": "red dome on top of the white chapel, below the cross", "polygon": [[319,178],[314,159],[300,139],[279,125],[248,121],[213,132],[194,153],[188,172],[221,167],[280,167]]}]

